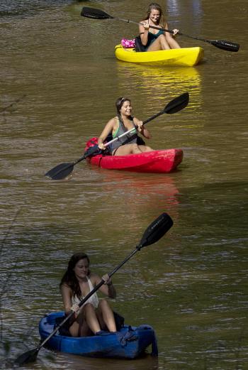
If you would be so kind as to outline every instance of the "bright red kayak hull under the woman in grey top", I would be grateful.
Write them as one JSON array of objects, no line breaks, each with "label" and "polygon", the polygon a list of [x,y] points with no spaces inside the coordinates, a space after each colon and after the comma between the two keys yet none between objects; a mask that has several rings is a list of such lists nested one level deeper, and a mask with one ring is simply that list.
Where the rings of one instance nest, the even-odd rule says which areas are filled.
[{"label": "bright red kayak hull under the woman in grey top", "polygon": [[[96,143],[96,138],[91,138],[86,143]],[[92,144],[91,144],[92,145]],[[86,158],[91,165],[97,165],[108,170],[128,170],[143,173],[169,173],[183,160],[184,152],[181,149],[164,149],[162,151],[148,151],[128,156],[97,155]]]}]

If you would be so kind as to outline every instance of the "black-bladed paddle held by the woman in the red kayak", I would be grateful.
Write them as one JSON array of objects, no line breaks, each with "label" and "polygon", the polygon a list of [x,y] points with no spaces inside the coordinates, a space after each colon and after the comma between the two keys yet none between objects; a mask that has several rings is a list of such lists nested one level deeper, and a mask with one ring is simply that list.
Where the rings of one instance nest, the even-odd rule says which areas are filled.
[{"label": "black-bladed paddle held by the woman in the red kayak", "polygon": [[[188,99],[189,95],[188,92],[185,92],[184,94],[179,95],[179,97],[174,98],[167,104],[166,107],[162,111],[159,111],[159,113],[154,114],[150,118],[148,118],[146,121],[143,122],[143,124],[147,124],[148,122],[152,121],[152,119],[160,116],[161,114],[167,113],[167,114],[174,114],[177,111],[181,111],[181,109],[184,109],[188,105]],[[113,138],[113,140],[108,141],[108,143],[104,144],[105,147],[111,145],[114,141],[119,140],[121,137],[129,134],[133,129],[130,129],[128,131],[125,131],[123,134]],[[77,165],[77,163],[81,162],[81,160],[86,159],[87,157],[100,154],[101,149],[98,148],[98,146],[91,146],[85,153],[84,156],[81,158],[74,160],[72,163],[60,163],[60,165],[56,165],[54,168],[49,170],[47,173],[45,173],[45,176],[48,178],[51,178],[52,180],[62,180],[64,178],[67,178],[70,173],[72,173],[72,170],[74,168],[74,165]]]}]

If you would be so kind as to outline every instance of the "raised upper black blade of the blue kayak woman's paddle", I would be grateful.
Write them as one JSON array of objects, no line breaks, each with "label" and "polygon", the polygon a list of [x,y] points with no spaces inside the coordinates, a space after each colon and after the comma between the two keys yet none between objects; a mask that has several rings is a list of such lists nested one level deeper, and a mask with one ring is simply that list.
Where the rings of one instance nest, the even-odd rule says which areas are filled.
[{"label": "raised upper black blade of the blue kayak woman's paddle", "polygon": [[173,221],[169,214],[162,213],[160,214],[157,219],[155,219],[152,224],[145,230],[145,233],[142,236],[140,244],[137,245],[137,249],[143,248],[143,246],[150,246],[151,244],[156,243],[159,239],[164,236],[166,232],[171,228],[173,225]]}]

